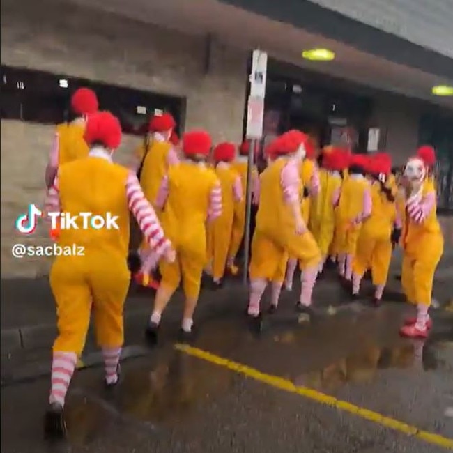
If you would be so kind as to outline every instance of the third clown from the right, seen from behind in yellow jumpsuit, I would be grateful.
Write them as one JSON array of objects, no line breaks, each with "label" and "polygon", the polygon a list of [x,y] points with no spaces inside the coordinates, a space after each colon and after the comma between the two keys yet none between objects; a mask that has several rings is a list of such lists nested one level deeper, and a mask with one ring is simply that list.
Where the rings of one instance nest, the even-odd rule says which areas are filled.
[{"label": "third clown from the right, seen from behind in yellow jumpsuit", "polygon": [[367,164],[367,156],[351,156],[336,212],[335,240],[339,247],[339,275],[348,282],[352,279],[353,257],[363,221],[371,214],[371,185],[365,178]]}]

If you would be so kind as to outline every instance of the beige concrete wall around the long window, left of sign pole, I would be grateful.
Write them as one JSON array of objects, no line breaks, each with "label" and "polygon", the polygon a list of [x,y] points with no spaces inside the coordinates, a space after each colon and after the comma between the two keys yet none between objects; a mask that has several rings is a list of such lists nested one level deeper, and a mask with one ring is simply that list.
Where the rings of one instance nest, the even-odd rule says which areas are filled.
[{"label": "beige concrete wall around the long window, left of sign pole", "polygon": [[[247,54],[217,43],[204,72],[205,40],[58,1],[1,2],[1,63],[84,77],[187,98],[185,129],[207,128],[215,140],[239,141]],[[49,261],[13,259],[14,243],[47,243],[44,227],[20,238],[14,221],[43,201],[43,172],[53,127],[1,121],[1,277],[34,277]],[[125,137],[126,162],[137,139]]]}]

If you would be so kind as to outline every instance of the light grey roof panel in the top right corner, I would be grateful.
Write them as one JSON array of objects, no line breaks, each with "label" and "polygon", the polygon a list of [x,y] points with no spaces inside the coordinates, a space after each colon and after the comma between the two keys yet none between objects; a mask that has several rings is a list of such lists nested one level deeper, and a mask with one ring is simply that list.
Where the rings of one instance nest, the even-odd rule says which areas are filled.
[{"label": "light grey roof panel in the top right corner", "polygon": [[453,57],[452,0],[310,0],[414,44]]}]

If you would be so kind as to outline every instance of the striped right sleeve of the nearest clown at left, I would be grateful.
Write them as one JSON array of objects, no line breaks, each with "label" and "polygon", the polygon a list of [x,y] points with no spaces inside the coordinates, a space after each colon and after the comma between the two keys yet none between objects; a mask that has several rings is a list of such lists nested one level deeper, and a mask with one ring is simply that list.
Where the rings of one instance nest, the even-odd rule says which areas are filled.
[{"label": "striped right sleeve of the nearest clown at left", "polygon": [[137,220],[146,242],[161,256],[171,247],[171,243],[164,235],[153,206],[145,198],[137,176],[132,172],[126,181],[126,195],[130,212]]}]

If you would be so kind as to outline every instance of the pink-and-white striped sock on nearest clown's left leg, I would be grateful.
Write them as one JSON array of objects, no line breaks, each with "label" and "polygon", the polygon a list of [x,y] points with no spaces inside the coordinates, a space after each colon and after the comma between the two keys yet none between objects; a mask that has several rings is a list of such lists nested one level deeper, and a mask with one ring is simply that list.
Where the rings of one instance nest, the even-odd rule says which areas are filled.
[{"label": "pink-and-white striped sock on nearest clown's left leg", "polygon": [[76,353],[54,352],[52,357],[52,388],[49,403],[64,406],[66,393],[77,364]]}]

